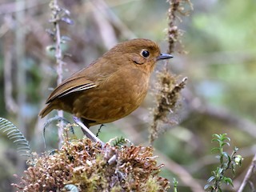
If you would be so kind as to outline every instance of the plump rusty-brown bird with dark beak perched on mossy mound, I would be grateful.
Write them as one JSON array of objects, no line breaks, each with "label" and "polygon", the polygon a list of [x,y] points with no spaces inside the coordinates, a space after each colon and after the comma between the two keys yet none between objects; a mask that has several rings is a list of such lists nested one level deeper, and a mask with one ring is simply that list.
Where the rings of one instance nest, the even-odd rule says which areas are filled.
[{"label": "plump rusty-brown bird with dark beak perched on mossy mound", "polygon": [[58,85],[39,115],[64,110],[87,127],[123,118],[141,105],[155,63],[167,58],[172,56],[148,39],[119,43]]}]

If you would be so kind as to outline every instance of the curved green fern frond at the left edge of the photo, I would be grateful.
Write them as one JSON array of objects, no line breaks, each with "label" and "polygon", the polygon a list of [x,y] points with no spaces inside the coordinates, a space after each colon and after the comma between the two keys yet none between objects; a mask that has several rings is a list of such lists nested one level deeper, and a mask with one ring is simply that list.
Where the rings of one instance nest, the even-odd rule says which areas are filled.
[{"label": "curved green fern frond at the left edge of the photo", "polygon": [[17,126],[14,126],[14,124],[6,118],[0,118],[0,131],[6,133],[7,138],[16,144],[18,154],[32,157],[30,144],[22,132],[18,130]]}]

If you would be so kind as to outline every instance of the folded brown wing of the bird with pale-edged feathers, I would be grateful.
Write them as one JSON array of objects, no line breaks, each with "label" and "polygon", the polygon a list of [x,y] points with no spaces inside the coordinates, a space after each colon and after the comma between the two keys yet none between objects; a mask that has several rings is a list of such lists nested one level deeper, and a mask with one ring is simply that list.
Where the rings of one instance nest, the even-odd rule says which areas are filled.
[{"label": "folded brown wing of the bird with pale-edged feathers", "polygon": [[61,98],[68,94],[88,90],[97,86],[94,82],[86,79],[85,77],[72,77],[66,79],[66,81],[62,82],[56,89],[50,94],[46,103],[50,103],[54,100],[54,98]]}]

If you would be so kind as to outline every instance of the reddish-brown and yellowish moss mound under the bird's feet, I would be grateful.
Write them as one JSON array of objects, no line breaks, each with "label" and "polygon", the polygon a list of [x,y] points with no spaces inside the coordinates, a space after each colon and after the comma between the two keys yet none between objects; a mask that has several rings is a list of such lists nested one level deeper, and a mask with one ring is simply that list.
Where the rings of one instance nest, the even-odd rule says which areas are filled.
[{"label": "reddish-brown and yellowish moss mound under the bird's feet", "polygon": [[[104,147],[89,139],[65,140],[61,150],[34,160],[24,171],[22,191],[66,191],[73,184],[79,191],[166,191],[169,182],[158,173],[152,147]],[[18,177],[18,176],[17,176]]]}]

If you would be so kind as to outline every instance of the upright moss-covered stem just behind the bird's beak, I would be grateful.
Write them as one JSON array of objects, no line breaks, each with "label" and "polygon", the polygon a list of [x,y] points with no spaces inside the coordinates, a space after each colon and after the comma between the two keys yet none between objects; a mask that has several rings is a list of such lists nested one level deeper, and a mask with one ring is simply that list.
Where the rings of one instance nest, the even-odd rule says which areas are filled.
[{"label": "upright moss-covered stem just behind the bird's beak", "polygon": [[[182,35],[182,32],[175,24],[177,18],[181,21],[178,14],[187,15],[187,12],[184,12],[184,5],[187,3],[192,9],[192,4],[190,0],[169,0],[167,2],[170,4],[170,8],[168,10],[169,23],[167,34],[169,50],[167,52],[168,54],[171,54],[174,53],[177,44],[181,44],[181,40],[179,38]],[[157,94],[155,94],[156,106],[153,109],[153,122],[150,126],[150,144],[153,144],[154,140],[158,138],[158,134],[163,132],[162,127],[159,126],[161,122],[171,122],[172,124],[177,123],[174,121],[168,121],[167,115],[174,113],[178,98],[180,97],[180,91],[186,85],[186,79],[187,78],[183,78],[182,82],[178,82],[177,77],[171,74],[167,69],[167,65],[165,65],[165,69],[162,72],[159,72],[157,83],[158,90]]]}]

